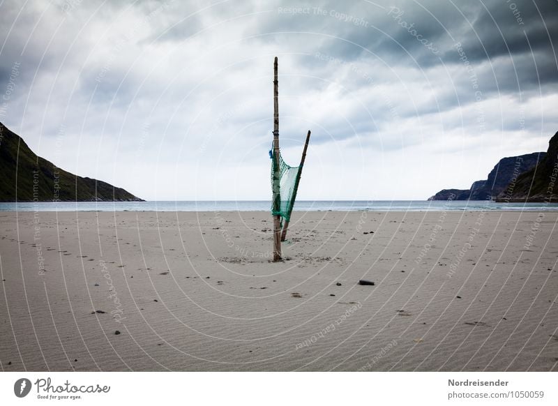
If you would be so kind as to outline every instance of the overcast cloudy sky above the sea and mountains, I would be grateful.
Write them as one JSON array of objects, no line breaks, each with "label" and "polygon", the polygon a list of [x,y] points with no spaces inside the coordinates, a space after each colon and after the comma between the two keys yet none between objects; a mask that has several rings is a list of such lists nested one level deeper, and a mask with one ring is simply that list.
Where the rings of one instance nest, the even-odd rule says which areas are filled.
[{"label": "overcast cloudy sky above the sea and mountains", "polygon": [[145,200],[425,200],[558,130],[558,2],[0,1],[0,121]]}]

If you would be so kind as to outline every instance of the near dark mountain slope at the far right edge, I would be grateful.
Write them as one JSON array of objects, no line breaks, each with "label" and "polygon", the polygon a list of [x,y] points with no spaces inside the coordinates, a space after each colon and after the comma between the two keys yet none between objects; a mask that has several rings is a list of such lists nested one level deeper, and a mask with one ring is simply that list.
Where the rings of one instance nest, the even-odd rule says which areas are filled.
[{"label": "near dark mountain slope at the far right edge", "polygon": [[558,133],[548,142],[541,161],[509,183],[497,197],[499,202],[556,202],[558,200]]}]

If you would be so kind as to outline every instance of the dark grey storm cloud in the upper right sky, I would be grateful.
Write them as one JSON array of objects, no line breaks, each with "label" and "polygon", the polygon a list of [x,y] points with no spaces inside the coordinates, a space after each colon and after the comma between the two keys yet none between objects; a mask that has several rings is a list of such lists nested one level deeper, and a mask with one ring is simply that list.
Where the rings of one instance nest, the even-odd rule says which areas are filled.
[{"label": "dark grey storm cloud in the upper right sky", "polygon": [[[313,11],[310,15],[278,15],[274,25],[313,28],[325,34],[335,32],[337,38],[324,36],[321,50],[346,61],[374,55],[391,66],[405,64],[417,70],[428,70],[442,63],[463,63],[456,52],[456,43],[462,44],[468,63],[478,69],[484,62],[490,65],[497,59],[506,59],[513,70],[512,61],[519,60],[518,78],[499,77],[497,85],[495,80],[491,81],[493,84],[485,84],[486,91],[497,87],[499,91],[518,91],[519,88],[528,91],[557,80],[553,44],[558,43],[558,31],[552,29],[558,26],[558,3],[555,1],[490,1],[466,6],[441,1],[423,1],[421,6],[411,1],[395,1],[382,5],[384,8],[367,3],[335,8],[349,16],[363,18],[366,27],[347,24],[329,13],[318,17]],[[333,4],[329,3],[329,7],[324,9],[333,10]],[[533,60],[531,66],[527,63],[528,57]]]}]

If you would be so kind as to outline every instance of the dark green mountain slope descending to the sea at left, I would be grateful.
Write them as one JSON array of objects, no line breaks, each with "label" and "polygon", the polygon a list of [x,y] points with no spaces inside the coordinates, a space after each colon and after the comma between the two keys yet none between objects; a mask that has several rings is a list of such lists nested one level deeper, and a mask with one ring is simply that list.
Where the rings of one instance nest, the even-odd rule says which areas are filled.
[{"label": "dark green mountain slope descending to the sea at left", "polygon": [[61,170],[0,123],[0,202],[142,201],[122,188]]}]

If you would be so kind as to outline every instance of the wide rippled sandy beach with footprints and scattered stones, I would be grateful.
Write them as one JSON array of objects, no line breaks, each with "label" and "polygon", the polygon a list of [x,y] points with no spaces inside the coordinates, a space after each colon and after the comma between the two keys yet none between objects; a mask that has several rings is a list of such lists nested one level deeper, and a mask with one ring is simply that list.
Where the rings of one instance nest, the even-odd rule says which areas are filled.
[{"label": "wide rippled sandy beach with footprints and scattered stones", "polygon": [[557,220],[3,212],[1,368],[557,370]]}]

